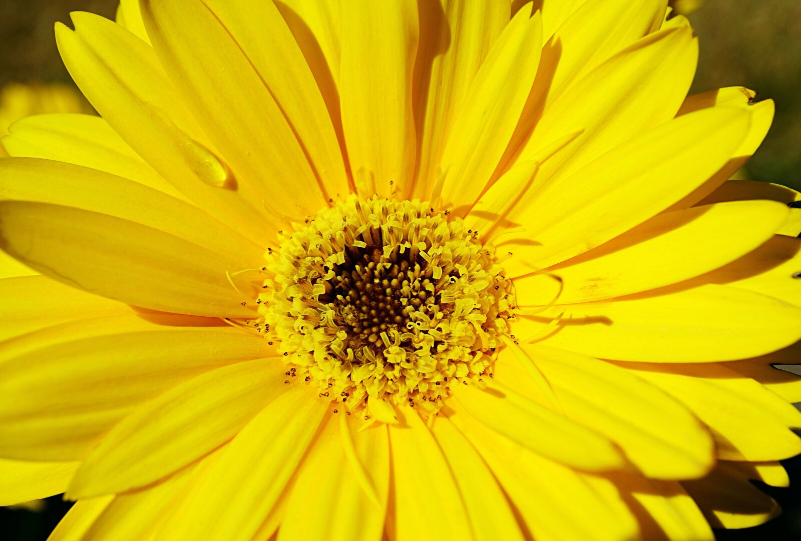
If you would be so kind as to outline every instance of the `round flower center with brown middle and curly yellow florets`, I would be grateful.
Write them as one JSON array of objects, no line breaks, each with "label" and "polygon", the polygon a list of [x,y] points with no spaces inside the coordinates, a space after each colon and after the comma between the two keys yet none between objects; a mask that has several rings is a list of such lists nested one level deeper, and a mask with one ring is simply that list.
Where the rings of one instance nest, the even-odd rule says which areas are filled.
[{"label": "round flower center with brown middle and curly yellow florets", "polygon": [[368,419],[387,420],[388,403],[436,412],[508,334],[511,284],[493,248],[426,203],[349,198],[270,258],[260,307],[289,373]]}]

